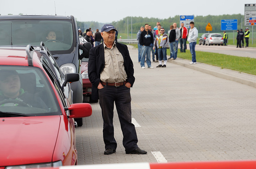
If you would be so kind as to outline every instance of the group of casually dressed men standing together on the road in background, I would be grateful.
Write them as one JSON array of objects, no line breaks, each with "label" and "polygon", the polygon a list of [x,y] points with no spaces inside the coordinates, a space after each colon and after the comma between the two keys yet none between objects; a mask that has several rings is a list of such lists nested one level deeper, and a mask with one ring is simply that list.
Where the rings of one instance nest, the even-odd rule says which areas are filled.
[{"label": "group of casually dressed men standing together on the road in background", "polygon": [[[166,67],[167,55],[166,50],[170,48],[169,60],[175,60],[178,53],[178,43],[180,42],[180,52],[186,52],[187,40],[190,43],[190,52],[192,55],[192,62],[190,64],[196,64],[196,40],[198,37],[198,30],[194,27],[194,22],[190,22],[190,31],[184,27],[184,23],[181,23],[181,27],[177,28],[177,23],[170,26],[168,34],[165,34],[165,29],[161,26],[160,22],[156,23],[155,30],[151,29],[149,24],[145,24],[144,27],[140,27],[137,33],[138,40],[138,61],[140,66],[145,69],[145,62],[148,68],[154,68],[151,66],[150,52],[152,51],[153,62],[159,62],[157,67]],[[154,52],[155,51],[155,52]],[[156,60],[155,60],[156,53]],[[145,60],[146,59],[146,60]],[[162,61],[164,64],[162,65]]]}]

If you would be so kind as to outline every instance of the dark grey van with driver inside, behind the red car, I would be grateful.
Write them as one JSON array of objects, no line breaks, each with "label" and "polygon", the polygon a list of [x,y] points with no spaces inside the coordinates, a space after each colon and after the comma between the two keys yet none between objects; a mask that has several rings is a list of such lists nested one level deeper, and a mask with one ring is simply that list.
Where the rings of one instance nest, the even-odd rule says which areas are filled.
[{"label": "dark grey van with driver inside, behind the red car", "polygon": [[[80,44],[74,16],[1,15],[0,34],[0,46],[31,44],[35,48],[43,41],[64,74],[79,73],[71,89],[73,103],[82,103],[81,60],[89,56],[91,44]],[[76,121],[82,125],[81,118]]]}]

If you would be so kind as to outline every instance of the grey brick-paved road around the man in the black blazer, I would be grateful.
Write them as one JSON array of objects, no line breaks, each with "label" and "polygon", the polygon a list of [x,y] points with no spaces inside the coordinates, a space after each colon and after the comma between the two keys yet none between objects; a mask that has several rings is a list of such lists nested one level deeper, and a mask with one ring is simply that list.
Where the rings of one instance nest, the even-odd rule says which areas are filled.
[{"label": "grey brick-paved road around the man in the black blazer", "polygon": [[255,76],[182,59],[167,62],[166,68],[152,63],[154,69],[142,69],[138,51],[129,51],[136,78],[133,123],[138,145],[148,154],[125,154],[115,113],[117,151],[104,155],[101,109],[92,103],[92,116],[76,128],[78,164],[256,159],[256,88],[225,78],[254,83]]}]

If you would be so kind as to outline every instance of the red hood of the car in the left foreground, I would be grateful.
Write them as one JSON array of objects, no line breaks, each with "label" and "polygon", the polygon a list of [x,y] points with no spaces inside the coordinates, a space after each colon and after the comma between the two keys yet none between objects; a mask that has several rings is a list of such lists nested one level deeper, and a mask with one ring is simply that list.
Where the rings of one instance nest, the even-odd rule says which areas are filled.
[{"label": "red hood of the car in the left foreground", "polygon": [[52,162],[60,116],[0,118],[0,167]]}]

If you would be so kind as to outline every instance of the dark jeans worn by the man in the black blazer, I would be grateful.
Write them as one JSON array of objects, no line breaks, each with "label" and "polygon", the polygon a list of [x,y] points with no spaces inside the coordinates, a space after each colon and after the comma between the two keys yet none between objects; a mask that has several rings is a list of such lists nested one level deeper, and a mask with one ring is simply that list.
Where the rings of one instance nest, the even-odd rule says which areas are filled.
[{"label": "dark jeans worn by the man in the black blazer", "polygon": [[119,87],[106,85],[103,89],[98,90],[98,92],[103,118],[103,140],[105,149],[113,148],[116,150],[117,148],[113,126],[113,110],[115,103],[123,133],[123,146],[126,151],[133,151],[138,147],[138,139],[135,126],[132,124],[130,88],[127,88],[125,85]]}]

